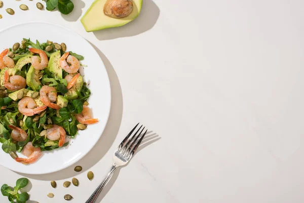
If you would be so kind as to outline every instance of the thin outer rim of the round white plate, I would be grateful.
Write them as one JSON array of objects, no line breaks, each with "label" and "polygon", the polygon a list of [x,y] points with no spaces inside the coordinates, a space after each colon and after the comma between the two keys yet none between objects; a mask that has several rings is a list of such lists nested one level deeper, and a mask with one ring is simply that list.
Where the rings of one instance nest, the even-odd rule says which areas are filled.
[{"label": "thin outer rim of the round white plate", "polygon": [[99,56],[100,60],[102,61],[103,68],[105,69],[105,72],[106,72],[106,75],[107,75],[107,79],[108,79],[107,80],[107,85],[108,85],[108,89],[109,89],[109,96],[108,96],[109,102],[108,102],[108,105],[107,105],[108,107],[107,107],[107,113],[106,113],[106,122],[105,122],[102,130],[100,131],[100,135],[99,135],[97,141],[92,145],[92,147],[86,153],[83,153],[81,156],[79,156],[79,158],[77,158],[77,159],[69,162],[66,165],[62,165],[62,167],[58,167],[57,170],[48,171],[48,172],[45,172],[45,173],[44,172],[42,172],[42,173],[30,173],[30,172],[18,171],[18,170],[15,170],[15,169],[11,168],[10,166],[6,166],[6,165],[3,165],[3,164],[0,163],[0,165],[2,165],[3,167],[8,168],[9,170],[17,172],[17,173],[28,174],[28,175],[43,175],[43,174],[51,174],[51,173],[59,172],[61,170],[64,170],[65,168],[73,165],[74,163],[77,163],[82,158],[84,158],[96,146],[97,142],[100,140],[100,138],[101,138],[101,136],[102,136],[102,134],[103,134],[103,132],[104,132],[107,124],[108,124],[108,121],[109,121],[110,110],[111,110],[111,106],[112,106],[112,96],[111,96],[112,89],[111,89],[111,83],[110,83],[109,74],[108,74],[108,71],[107,71],[107,69],[105,67],[105,64],[104,64],[102,58],[100,57],[100,55],[98,54],[98,52],[96,51],[96,49],[93,47],[93,45],[87,39],[85,39],[84,37],[82,37],[81,35],[79,35],[79,33],[75,32],[74,30],[72,30],[70,28],[67,28],[67,27],[64,27],[63,25],[60,25],[60,24],[50,23],[50,22],[46,22],[46,21],[28,21],[28,22],[25,22],[25,23],[17,23],[17,24],[14,24],[12,26],[0,29],[0,33],[3,32],[3,31],[5,31],[5,30],[11,29],[13,27],[17,27],[17,26],[24,25],[24,24],[34,24],[34,23],[43,23],[43,24],[49,24],[49,25],[61,27],[63,29],[66,29],[68,31],[73,32],[78,37],[84,39],[89,44],[89,46],[92,47],[92,49],[94,50],[94,52]]}]

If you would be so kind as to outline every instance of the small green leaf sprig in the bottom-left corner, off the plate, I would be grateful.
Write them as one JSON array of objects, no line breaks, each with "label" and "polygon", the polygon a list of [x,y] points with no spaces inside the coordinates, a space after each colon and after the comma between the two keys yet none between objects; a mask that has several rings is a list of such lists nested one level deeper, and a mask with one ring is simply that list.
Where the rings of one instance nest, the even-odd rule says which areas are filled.
[{"label": "small green leaf sprig in the bottom-left corner, off the plate", "polygon": [[14,188],[7,184],[3,184],[1,187],[1,193],[3,196],[8,196],[10,202],[25,203],[29,199],[29,195],[27,192],[19,193],[19,190],[24,188],[27,184],[27,178],[20,178],[16,181],[16,186]]}]

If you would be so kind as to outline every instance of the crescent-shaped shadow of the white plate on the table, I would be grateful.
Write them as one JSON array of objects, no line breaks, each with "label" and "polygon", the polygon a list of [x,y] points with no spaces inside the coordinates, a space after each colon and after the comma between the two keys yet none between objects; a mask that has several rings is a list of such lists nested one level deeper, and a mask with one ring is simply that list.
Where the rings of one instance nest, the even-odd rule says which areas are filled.
[{"label": "crescent-shaped shadow of the white plate on the table", "polygon": [[101,57],[107,74],[109,76],[110,80],[110,86],[111,86],[111,109],[110,109],[110,115],[107,121],[107,124],[104,128],[104,131],[99,139],[99,141],[96,143],[96,145],[93,147],[93,149],[84,156],[80,161],[77,163],[65,168],[64,170],[61,170],[59,172],[54,172],[51,174],[45,174],[45,175],[29,175],[29,174],[23,174],[18,173],[21,176],[25,176],[27,178],[37,179],[37,180],[45,180],[45,181],[51,181],[51,180],[62,180],[67,179],[70,177],[73,177],[75,175],[79,175],[80,173],[74,172],[74,167],[76,165],[81,165],[83,167],[83,170],[81,173],[87,171],[89,168],[91,168],[93,165],[95,165],[109,150],[109,148],[112,146],[113,142],[115,141],[121,121],[123,116],[123,97],[122,97],[122,89],[120,86],[119,79],[116,75],[115,70],[113,69],[113,66],[111,65],[110,61],[106,58],[106,56],[94,45],[92,45],[95,50],[98,52],[99,56]]}]

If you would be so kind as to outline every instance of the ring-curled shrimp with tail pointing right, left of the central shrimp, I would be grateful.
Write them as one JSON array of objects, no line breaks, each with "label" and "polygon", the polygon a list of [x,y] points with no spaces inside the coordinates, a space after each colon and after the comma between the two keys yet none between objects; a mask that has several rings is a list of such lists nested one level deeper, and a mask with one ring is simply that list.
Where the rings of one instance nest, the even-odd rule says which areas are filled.
[{"label": "ring-curled shrimp with tail pointing right, left of the central shrimp", "polygon": [[33,116],[34,114],[39,114],[44,111],[47,106],[37,107],[35,100],[31,97],[23,97],[18,102],[18,110],[24,116]]}]

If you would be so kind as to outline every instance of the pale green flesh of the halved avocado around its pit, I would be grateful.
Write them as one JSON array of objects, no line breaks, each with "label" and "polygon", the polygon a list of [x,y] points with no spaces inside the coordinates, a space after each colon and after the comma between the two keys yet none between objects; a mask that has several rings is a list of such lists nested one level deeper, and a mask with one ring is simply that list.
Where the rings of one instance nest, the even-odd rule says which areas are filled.
[{"label": "pale green flesh of the halved avocado around its pit", "polygon": [[119,27],[134,20],[140,13],[142,0],[133,0],[133,11],[125,18],[111,18],[104,14],[107,0],[96,0],[80,20],[86,31],[95,31],[110,27]]}]

